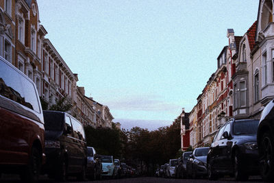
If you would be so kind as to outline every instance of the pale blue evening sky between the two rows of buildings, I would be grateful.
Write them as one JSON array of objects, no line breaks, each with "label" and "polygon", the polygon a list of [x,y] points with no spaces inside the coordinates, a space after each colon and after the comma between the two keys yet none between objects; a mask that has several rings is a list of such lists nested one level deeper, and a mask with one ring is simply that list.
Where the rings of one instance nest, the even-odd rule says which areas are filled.
[{"label": "pale blue evening sky between the two rows of buildings", "polygon": [[46,38],[114,122],[157,130],[190,112],[257,0],[37,0]]}]

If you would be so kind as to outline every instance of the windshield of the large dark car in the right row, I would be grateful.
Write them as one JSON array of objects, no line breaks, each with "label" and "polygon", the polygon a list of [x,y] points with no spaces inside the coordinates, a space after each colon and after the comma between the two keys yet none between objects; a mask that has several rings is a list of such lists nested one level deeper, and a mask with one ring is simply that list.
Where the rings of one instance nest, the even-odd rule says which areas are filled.
[{"label": "windshield of the large dark car in the right row", "polygon": [[258,120],[235,121],[234,134],[235,135],[257,134],[258,124],[259,124]]}]

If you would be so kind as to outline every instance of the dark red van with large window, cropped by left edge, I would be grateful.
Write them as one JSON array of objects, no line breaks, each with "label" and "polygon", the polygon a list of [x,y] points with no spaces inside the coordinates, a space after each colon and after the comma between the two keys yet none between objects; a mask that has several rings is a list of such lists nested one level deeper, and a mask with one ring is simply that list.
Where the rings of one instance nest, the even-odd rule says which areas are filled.
[{"label": "dark red van with large window, cropped by left edge", "polygon": [[36,85],[0,57],[0,174],[36,182],[45,162],[44,119]]}]

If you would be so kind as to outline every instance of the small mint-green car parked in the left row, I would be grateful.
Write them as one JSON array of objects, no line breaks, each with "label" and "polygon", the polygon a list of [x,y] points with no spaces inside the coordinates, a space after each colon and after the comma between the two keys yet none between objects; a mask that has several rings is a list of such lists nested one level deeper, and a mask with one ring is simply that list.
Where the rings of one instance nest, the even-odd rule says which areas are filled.
[{"label": "small mint-green car parked in the left row", "polygon": [[113,156],[101,156],[102,175],[116,178],[118,171],[114,164]]}]

